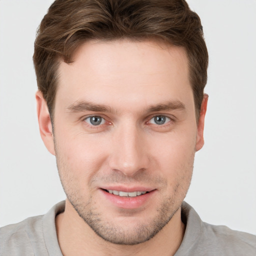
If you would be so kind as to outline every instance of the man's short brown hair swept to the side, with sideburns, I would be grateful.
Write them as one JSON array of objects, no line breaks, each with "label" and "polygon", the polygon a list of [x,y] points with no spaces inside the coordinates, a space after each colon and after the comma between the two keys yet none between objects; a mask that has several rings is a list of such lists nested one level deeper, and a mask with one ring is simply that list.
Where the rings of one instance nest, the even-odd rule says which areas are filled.
[{"label": "man's short brown hair swept to the side, with sideburns", "polygon": [[38,89],[52,116],[59,60],[89,39],[160,38],[184,47],[198,120],[207,80],[208,53],[199,16],[185,0],[55,0],[43,17],[34,43]]}]

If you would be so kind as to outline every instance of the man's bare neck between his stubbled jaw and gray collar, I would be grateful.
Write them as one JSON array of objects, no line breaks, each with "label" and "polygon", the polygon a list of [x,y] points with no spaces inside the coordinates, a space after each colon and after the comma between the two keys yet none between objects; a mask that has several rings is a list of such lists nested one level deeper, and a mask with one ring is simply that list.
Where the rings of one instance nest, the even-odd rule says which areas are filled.
[{"label": "man's bare neck between his stubbled jaw and gray collar", "polygon": [[71,255],[174,255],[178,249],[185,226],[181,221],[179,208],[171,220],[150,240],[135,245],[110,243],[99,237],[80,218],[72,205],[66,200],[65,211],[56,216],[56,231],[63,256]]}]

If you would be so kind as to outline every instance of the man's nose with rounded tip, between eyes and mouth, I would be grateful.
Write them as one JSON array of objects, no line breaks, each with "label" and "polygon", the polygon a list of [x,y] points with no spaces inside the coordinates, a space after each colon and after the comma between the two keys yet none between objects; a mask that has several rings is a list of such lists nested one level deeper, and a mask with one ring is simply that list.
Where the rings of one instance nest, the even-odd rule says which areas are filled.
[{"label": "man's nose with rounded tip, between eyes and mouth", "polygon": [[149,166],[146,138],[134,125],[116,128],[112,137],[109,167],[126,176],[134,176]]}]

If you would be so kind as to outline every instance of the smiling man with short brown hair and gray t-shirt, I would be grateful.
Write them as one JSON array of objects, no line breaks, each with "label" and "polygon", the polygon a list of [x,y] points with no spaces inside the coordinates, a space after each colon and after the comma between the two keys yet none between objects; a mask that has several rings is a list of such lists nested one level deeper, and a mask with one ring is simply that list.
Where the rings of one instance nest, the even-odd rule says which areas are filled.
[{"label": "smiling man with short brown hair and gray t-shirt", "polygon": [[203,145],[207,50],[183,0],[56,0],[35,40],[37,115],[67,199],[3,227],[2,255],[255,255],[183,202]]}]

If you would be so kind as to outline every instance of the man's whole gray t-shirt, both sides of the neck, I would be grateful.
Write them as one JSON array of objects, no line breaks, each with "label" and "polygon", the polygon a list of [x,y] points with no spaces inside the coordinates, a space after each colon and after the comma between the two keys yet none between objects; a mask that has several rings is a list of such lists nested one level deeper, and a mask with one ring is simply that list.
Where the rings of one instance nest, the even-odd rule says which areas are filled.
[{"label": "man's whole gray t-shirt, both sides of the neck", "polygon": [[[62,201],[45,215],[29,217],[0,228],[0,256],[62,256],[55,216],[64,207],[65,202]],[[202,222],[186,202],[182,203],[181,212],[186,229],[174,256],[256,256],[255,235]]]}]

